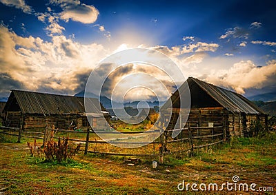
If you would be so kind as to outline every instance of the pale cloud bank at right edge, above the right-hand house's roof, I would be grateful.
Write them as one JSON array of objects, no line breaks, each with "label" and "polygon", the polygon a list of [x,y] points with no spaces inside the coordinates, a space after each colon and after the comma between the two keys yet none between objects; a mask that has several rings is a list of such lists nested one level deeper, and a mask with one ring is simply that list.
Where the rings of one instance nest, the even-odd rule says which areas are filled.
[{"label": "pale cloud bank at right edge, above the right-hand house's roof", "polygon": [[276,61],[258,67],[253,61],[240,61],[228,70],[213,70],[206,81],[244,94],[248,88],[264,88],[276,82]]}]

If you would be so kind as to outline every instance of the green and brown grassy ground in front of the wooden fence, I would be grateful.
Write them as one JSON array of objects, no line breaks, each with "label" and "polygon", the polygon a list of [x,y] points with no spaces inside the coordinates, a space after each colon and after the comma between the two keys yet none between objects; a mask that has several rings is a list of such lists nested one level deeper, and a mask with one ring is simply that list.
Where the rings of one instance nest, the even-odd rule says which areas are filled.
[{"label": "green and brown grassy ground in front of the wooden fence", "polygon": [[185,183],[256,183],[276,192],[276,134],[263,138],[235,138],[229,143],[195,150],[193,156],[166,156],[164,165],[152,169],[150,159],[128,166],[121,157],[81,152],[69,163],[46,163],[30,156],[26,141],[0,134],[0,194],[252,194],[226,187],[220,192],[179,192]]}]

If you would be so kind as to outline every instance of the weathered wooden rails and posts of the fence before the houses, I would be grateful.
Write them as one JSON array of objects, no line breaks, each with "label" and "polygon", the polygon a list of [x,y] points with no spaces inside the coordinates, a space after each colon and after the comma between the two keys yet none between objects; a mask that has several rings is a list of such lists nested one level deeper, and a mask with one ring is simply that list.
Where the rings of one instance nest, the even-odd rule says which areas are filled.
[{"label": "weathered wooden rails and posts of the fence before the houses", "polygon": [[[164,125],[163,125],[164,126]],[[22,137],[28,137],[28,138],[37,138],[37,139],[43,139],[45,136],[45,132],[24,132],[21,131],[20,128],[17,127],[4,127],[4,126],[0,126],[0,134],[8,134],[11,136],[18,136],[18,140],[20,141],[21,136]],[[10,133],[10,132],[6,132],[6,130],[10,130],[12,132],[17,132],[17,134],[15,133]],[[197,135],[193,135],[195,134],[195,130],[197,131]],[[200,135],[201,134],[201,130],[204,130],[206,132],[206,130],[211,130],[210,134],[206,134],[206,135]],[[216,132],[219,132],[217,134],[214,134],[214,130],[216,130]],[[226,130],[225,127],[220,125],[220,126],[215,126],[215,127],[190,127],[190,124],[188,123],[188,127],[184,127],[182,129],[175,129],[175,130],[162,130],[162,128],[160,128],[160,130],[150,130],[150,131],[142,131],[142,132],[138,132],[138,131],[128,131],[128,132],[115,132],[115,131],[92,131],[90,129],[84,130],[84,131],[73,131],[73,130],[59,130],[59,129],[55,129],[55,130],[51,130],[53,132],[66,132],[66,133],[77,133],[77,134],[86,134],[86,138],[83,139],[79,139],[79,138],[69,138],[70,141],[77,141],[77,142],[82,142],[85,143],[85,149],[82,150],[84,151],[84,154],[87,153],[94,153],[94,154],[103,154],[103,155],[115,155],[115,156],[159,156],[159,162],[162,163],[163,162],[163,156],[169,155],[169,154],[175,154],[175,153],[185,153],[185,152],[193,152],[193,150],[200,148],[200,147],[208,147],[210,145],[215,145],[218,143],[222,143],[224,141],[226,141]],[[172,139],[170,140],[171,136],[170,136],[170,132],[174,132],[174,131],[179,131],[179,136],[177,136],[177,139]],[[114,144],[148,144],[148,142],[130,142],[130,141],[119,141],[119,140],[114,140],[114,141],[105,141],[105,140],[90,140],[90,134],[141,134],[141,133],[161,133],[161,136],[159,137],[159,141],[155,140],[153,142],[151,142],[150,144],[153,144],[153,150],[155,151],[155,144],[158,144],[159,146],[159,153],[158,154],[131,154],[131,153],[119,153],[119,152],[100,152],[100,151],[90,151],[89,150],[89,144],[90,143],[99,143],[99,144],[106,144],[106,143],[114,143]],[[185,132],[183,137],[182,133]],[[188,133],[188,134],[187,134]],[[44,135],[44,136],[31,136],[31,135],[26,135],[26,134],[36,134],[36,135]],[[223,139],[220,139],[217,141],[217,138],[219,136],[223,136]],[[58,136],[53,136],[52,138],[59,138]],[[157,137],[158,138],[158,137]],[[195,141],[194,140],[201,140],[201,139],[211,139],[212,143],[205,143],[202,145],[195,145]],[[216,140],[214,140],[214,138],[216,138]],[[190,147],[188,148],[184,148],[183,150],[178,150],[178,151],[174,151],[174,152],[168,152],[166,151],[167,145],[171,144],[171,143],[177,143],[177,142],[185,142],[188,143],[190,145]]]}]

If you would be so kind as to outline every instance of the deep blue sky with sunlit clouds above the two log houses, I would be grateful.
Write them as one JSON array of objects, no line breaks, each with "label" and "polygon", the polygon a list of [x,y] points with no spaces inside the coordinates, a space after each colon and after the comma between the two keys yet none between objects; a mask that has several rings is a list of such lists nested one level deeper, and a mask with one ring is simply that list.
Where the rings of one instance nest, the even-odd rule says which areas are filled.
[{"label": "deep blue sky with sunlit clouds above the two log houses", "polygon": [[101,59],[137,47],[246,96],[276,91],[273,1],[0,2],[0,96],[75,94]]}]

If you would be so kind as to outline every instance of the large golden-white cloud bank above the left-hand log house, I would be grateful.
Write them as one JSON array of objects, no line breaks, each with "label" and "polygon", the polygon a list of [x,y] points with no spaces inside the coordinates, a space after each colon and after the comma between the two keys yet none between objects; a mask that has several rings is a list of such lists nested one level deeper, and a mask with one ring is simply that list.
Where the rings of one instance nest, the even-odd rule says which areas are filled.
[{"label": "large golden-white cloud bank above the left-hand log house", "polygon": [[[39,37],[23,38],[3,25],[0,45],[1,75],[21,83],[20,88],[69,94],[78,92],[83,86],[79,79],[110,53],[101,45],[81,45],[61,35],[53,36],[50,42]],[[7,85],[6,90],[10,88],[12,85]]]}]

